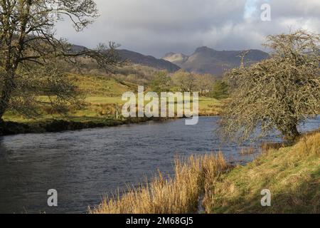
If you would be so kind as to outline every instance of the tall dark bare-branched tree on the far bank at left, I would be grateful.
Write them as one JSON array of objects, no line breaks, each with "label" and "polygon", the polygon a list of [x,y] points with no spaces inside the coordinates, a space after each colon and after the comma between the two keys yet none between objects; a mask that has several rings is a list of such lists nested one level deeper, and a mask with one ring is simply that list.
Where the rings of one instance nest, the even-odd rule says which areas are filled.
[{"label": "tall dark bare-branched tree on the far bank at left", "polygon": [[58,21],[71,21],[81,31],[97,16],[92,0],[0,0],[0,121],[7,110],[35,115],[35,105],[44,103],[39,95],[61,109],[78,103],[63,66],[81,58],[106,70],[119,63],[113,43],[74,50],[55,37]]}]

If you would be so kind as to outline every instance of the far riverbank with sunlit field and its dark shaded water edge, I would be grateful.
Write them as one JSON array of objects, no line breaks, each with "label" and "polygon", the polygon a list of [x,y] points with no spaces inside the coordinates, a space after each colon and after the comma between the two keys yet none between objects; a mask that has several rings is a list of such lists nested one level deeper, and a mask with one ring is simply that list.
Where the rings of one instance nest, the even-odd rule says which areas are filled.
[{"label": "far riverbank with sunlit field and its dark shaded water edge", "polygon": [[[121,107],[124,104],[122,94],[127,91],[137,93],[138,86],[134,83],[91,75],[71,74],[70,79],[78,87],[80,95],[85,97],[81,108],[70,107],[68,113],[61,116],[54,108],[43,107],[38,109],[39,115],[36,118],[26,118],[8,111],[4,115],[5,123],[0,125],[0,135],[100,128],[150,120],[150,118],[121,118]],[[41,96],[39,99],[48,101],[48,98]],[[223,101],[199,98],[200,115],[219,115],[222,106]]]}]

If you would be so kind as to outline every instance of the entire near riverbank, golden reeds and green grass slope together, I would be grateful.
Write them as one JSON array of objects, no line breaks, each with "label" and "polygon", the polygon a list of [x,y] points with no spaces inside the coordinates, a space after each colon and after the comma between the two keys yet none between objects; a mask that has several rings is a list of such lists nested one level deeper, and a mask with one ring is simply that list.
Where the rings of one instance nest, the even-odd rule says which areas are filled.
[{"label": "entire near riverbank, golden reeds and green grass slope together", "polygon": [[[161,174],[144,187],[105,199],[92,213],[319,213],[320,133],[290,147],[270,149],[245,166],[230,167],[221,154],[176,160],[175,177]],[[260,192],[272,193],[262,207]],[[204,196],[204,199],[202,200]]]}]

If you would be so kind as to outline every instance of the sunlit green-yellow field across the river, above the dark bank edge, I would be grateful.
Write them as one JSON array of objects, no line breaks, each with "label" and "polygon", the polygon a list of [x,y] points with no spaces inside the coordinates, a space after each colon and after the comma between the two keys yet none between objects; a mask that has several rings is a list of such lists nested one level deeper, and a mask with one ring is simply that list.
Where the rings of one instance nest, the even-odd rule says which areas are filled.
[{"label": "sunlit green-yellow field across the river, above the dark bank edge", "polygon": [[[17,123],[32,123],[51,119],[76,120],[76,121],[100,121],[105,118],[115,118],[116,110],[124,104],[122,94],[127,91],[137,93],[138,86],[133,83],[116,81],[106,76],[82,76],[70,75],[70,78],[78,87],[80,94],[85,97],[85,105],[81,109],[71,108],[68,115],[61,116],[50,108],[39,110],[41,116],[36,119],[25,118],[13,112],[4,115],[5,121]],[[41,98],[46,100],[46,98]],[[214,98],[199,98],[200,115],[219,115],[222,102]],[[119,112],[119,110],[118,110]]]}]

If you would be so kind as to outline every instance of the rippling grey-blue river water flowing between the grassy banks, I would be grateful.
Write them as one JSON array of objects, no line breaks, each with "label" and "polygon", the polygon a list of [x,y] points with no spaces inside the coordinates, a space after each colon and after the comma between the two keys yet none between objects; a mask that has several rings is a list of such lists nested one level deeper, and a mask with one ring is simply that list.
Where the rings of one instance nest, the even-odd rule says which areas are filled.
[{"label": "rippling grey-blue river water flowing between the grassy banks", "polygon": [[[6,136],[0,139],[0,212],[83,213],[107,192],[170,173],[176,155],[222,150],[237,162],[235,143],[221,144],[218,118],[142,123],[114,128]],[[303,130],[320,127],[320,118]],[[279,140],[277,135],[267,140]],[[47,205],[47,191],[58,190],[58,207]]]}]

